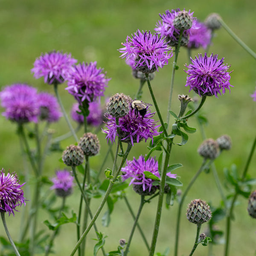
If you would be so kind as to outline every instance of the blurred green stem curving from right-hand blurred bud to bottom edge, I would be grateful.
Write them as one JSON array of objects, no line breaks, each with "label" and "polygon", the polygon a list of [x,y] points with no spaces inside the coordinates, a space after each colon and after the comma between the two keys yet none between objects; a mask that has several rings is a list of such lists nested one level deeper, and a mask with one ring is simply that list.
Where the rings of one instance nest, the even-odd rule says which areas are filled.
[{"label": "blurred green stem curving from right-hand blurred bud to bottom edge", "polygon": [[[178,255],[178,245],[179,245],[179,233],[180,233],[180,217],[181,217],[181,209],[183,206],[183,202],[184,199],[187,195],[187,193],[189,192],[189,189],[192,187],[192,185],[194,184],[195,180],[198,178],[198,176],[201,174],[201,172],[209,165],[206,165],[206,161],[207,159],[204,158],[203,163],[201,164],[200,169],[196,172],[196,174],[194,175],[194,177],[192,178],[192,180],[190,181],[189,185],[187,186],[185,192],[183,193],[180,202],[179,202],[179,208],[178,208],[178,212],[177,212],[177,222],[176,222],[176,235],[175,235],[175,251],[174,251],[174,256]],[[212,162],[213,160],[211,160],[210,162]],[[209,163],[210,163],[209,162]]]}]

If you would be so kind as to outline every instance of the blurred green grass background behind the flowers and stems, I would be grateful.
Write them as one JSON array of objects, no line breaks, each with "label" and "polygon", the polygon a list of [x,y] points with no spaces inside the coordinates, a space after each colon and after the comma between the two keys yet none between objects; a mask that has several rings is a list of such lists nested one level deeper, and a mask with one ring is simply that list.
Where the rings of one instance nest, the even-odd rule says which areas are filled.
[{"label": "blurred green grass background behind the flowers and stems", "polygon": [[[130,67],[125,64],[124,59],[119,58],[120,53],[116,49],[121,47],[121,43],[125,41],[127,35],[131,35],[137,29],[151,30],[153,32],[157,20],[160,19],[159,13],[163,14],[166,9],[176,8],[190,9],[194,12],[194,17],[198,17],[201,21],[209,13],[219,13],[228,26],[249,47],[256,50],[256,2],[251,0],[0,0],[0,86],[21,82],[31,84],[40,91],[44,90],[53,93],[53,88],[44,84],[43,79],[35,80],[30,70],[33,67],[35,58],[41,55],[42,52],[56,49],[63,50],[63,52],[71,52],[72,56],[81,62],[97,61],[97,67],[104,68],[107,71],[107,76],[111,78],[105,96],[111,96],[118,92],[133,96],[137,92],[139,81],[131,76]],[[255,136],[256,102],[253,102],[250,97],[256,85],[255,60],[241,49],[224,29],[216,32],[213,44],[209,49],[209,53],[211,52],[218,54],[219,58],[224,57],[224,62],[231,64],[230,70],[234,70],[230,80],[230,83],[234,86],[231,88],[231,93],[227,92],[225,95],[220,96],[219,99],[208,97],[201,111],[209,120],[209,124],[206,127],[207,137],[216,139],[222,134],[229,134],[233,140],[233,148],[228,152],[223,152],[215,161],[221,182],[225,184],[223,168],[229,168],[232,163],[235,163],[241,174]],[[198,55],[198,53],[204,53],[204,49],[192,51],[193,56]],[[188,93],[188,88],[184,87],[186,73],[183,71],[183,65],[187,62],[186,49],[181,49],[177,63],[180,68],[175,75],[172,103],[172,110],[176,113],[180,107],[177,95]],[[163,67],[152,81],[152,87],[164,119],[171,71],[172,59],[169,65]],[[60,86],[60,94],[65,108],[69,112],[74,99],[64,90],[65,87],[65,84]],[[193,93],[191,93],[191,96],[193,96]],[[151,102],[147,87],[144,90],[143,100]],[[104,100],[102,99],[102,104],[103,102]],[[154,107],[152,109],[154,110]],[[189,125],[198,127],[195,118],[189,120]],[[16,128],[14,123],[9,122],[4,117],[0,118],[1,167],[7,170],[10,169],[11,172],[19,173],[23,169],[23,160]],[[55,129],[54,136],[68,131],[63,118],[58,124],[52,125],[51,128]],[[79,132],[79,136],[81,135],[82,131]],[[101,152],[90,163],[95,170],[97,170],[99,162],[108,149],[105,135],[99,134],[99,138],[101,140]],[[178,143],[179,140],[175,142]],[[189,141],[185,146],[175,145],[173,147],[170,163],[183,164],[183,168],[178,169],[177,174],[181,176],[180,180],[185,188],[201,165],[202,159],[197,154],[197,148],[201,142],[201,135],[198,131],[190,135]],[[71,143],[74,143],[73,138],[65,140],[61,145],[65,148]],[[145,154],[147,145],[148,143],[135,145],[128,158],[132,159],[133,156],[138,157],[140,154]],[[52,177],[55,169],[64,168],[64,165],[61,165],[58,161],[60,157],[61,153],[52,153],[48,156],[45,164],[46,175]],[[252,177],[256,175],[255,165],[256,157],[253,156],[249,170]],[[111,166],[112,164],[109,160],[105,167]],[[33,181],[30,181],[30,183],[33,183]],[[226,194],[228,193],[227,191],[225,192]],[[25,196],[30,199],[27,195]],[[135,195],[131,188],[128,189],[128,197],[131,198],[134,211],[136,211],[140,197]],[[219,205],[220,197],[216,190],[212,173],[201,174],[201,177],[189,192],[186,204],[195,198],[202,198],[207,202],[212,202],[215,206]],[[77,191],[67,199],[67,203],[75,211],[78,209],[78,202],[79,193]],[[240,204],[235,209],[236,221],[232,225],[230,255],[255,255],[256,221],[249,218],[247,214],[247,201],[244,198],[239,198],[239,202]],[[95,205],[93,205],[93,212],[98,203],[99,200],[96,200]],[[145,229],[148,241],[151,241],[156,203],[156,200],[153,200],[151,204],[145,205],[140,218],[140,224]],[[27,205],[29,206],[29,204],[30,202],[28,201]],[[180,242],[183,244],[180,243],[180,255],[188,255],[194,243],[196,232],[195,225],[186,220],[185,209],[186,207],[184,207],[181,223]],[[23,207],[21,208],[22,210]],[[156,251],[163,252],[166,247],[169,247],[169,255],[173,253],[176,210],[176,203],[174,207],[163,209]],[[103,210],[104,212],[105,210]],[[48,218],[44,212],[41,212],[41,215],[42,221]],[[17,212],[15,218],[10,216],[7,219],[14,239],[19,227],[20,216],[21,212]],[[116,203],[111,216],[110,227],[102,227],[101,217],[102,215],[99,216],[97,223],[99,230],[108,236],[106,251],[115,250],[119,239],[128,240],[128,234],[133,223],[132,218],[127,212],[123,201]],[[219,224],[222,230],[224,230],[224,224],[224,221]],[[75,225],[72,224],[67,224],[66,227],[62,228],[61,236],[55,241],[55,255],[69,255],[71,253],[76,244],[75,230]],[[202,227],[203,230],[204,226]],[[3,234],[3,231],[1,234]],[[92,248],[95,241],[91,240],[92,238],[95,238],[93,230],[87,240],[87,255],[93,255]],[[221,255],[223,250],[223,245],[215,246],[213,247],[213,254]],[[195,255],[202,256],[207,255],[207,253],[207,247],[198,246]],[[137,232],[134,235],[130,254],[147,255],[145,246]],[[99,252],[99,255],[101,255],[101,252]]]}]

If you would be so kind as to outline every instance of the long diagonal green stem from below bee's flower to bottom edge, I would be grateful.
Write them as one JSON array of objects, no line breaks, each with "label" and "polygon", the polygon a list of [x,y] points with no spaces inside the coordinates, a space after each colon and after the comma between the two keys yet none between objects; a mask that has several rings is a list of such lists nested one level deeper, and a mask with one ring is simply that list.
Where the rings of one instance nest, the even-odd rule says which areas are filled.
[{"label": "long diagonal green stem from below bee's flower to bottom edge", "polygon": [[124,154],[123,157],[122,157],[122,162],[121,162],[121,164],[120,164],[120,166],[119,166],[118,171],[116,172],[116,174],[114,175],[114,177],[110,180],[110,183],[109,183],[109,185],[108,185],[108,189],[107,189],[107,191],[106,191],[106,193],[105,193],[104,198],[102,199],[102,202],[99,204],[99,207],[98,207],[98,209],[97,209],[95,215],[93,216],[92,220],[91,220],[90,223],[88,224],[87,229],[84,230],[84,233],[82,234],[82,236],[81,236],[81,238],[79,239],[79,241],[76,243],[76,246],[75,246],[75,248],[73,249],[73,251],[72,251],[72,253],[70,254],[70,256],[74,256],[74,254],[76,253],[77,249],[79,248],[81,242],[83,241],[84,237],[89,233],[90,229],[91,229],[92,226],[93,226],[93,223],[95,223],[96,219],[97,219],[98,216],[99,216],[99,213],[102,211],[102,208],[103,208],[103,206],[105,205],[105,203],[106,203],[106,201],[107,201],[107,199],[108,199],[108,196],[109,196],[109,194],[110,194],[110,192],[111,192],[111,189],[113,188],[114,182],[116,182],[116,179],[117,179],[117,177],[118,177],[118,175],[119,175],[119,172],[121,171],[121,168],[122,168],[122,166],[124,165],[125,160],[126,160],[128,154],[129,154],[130,150],[131,150],[131,144],[128,143],[128,147],[127,147],[127,149],[126,149],[125,154]]}]

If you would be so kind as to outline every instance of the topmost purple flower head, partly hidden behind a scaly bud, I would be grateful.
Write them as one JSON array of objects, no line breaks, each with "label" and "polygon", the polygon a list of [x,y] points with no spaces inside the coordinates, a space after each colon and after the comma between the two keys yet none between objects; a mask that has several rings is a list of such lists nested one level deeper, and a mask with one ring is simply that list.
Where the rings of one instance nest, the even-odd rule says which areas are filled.
[{"label": "topmost purple flower head, partly hidden behind a scaly bud", "polygon": [[[183,12],[184,11],[185,10],[183,10]],[[180,15],[180,9],[172,10],[171,12],[169,10],[166,10],[165,14],[159,14],[161,20],[158,21],[157,27],[155,28],[155,30],[160,32],[161,36],[166,39],[166,42],[168,42],[170,46],[176,46],[178,44],[178,40],[180,37],[180,29],[177,29],[174,26],[175,18],[178,17],[178,15]],[[196,18],[193,17],[193,12],[190,13],[189,10],[187,12],[187,15],[189,15],[192,20],[191,28],[195,29]],[[183,30],[182,39],[180,43],[181,46],[186,46],[188,44],[190,29]]]}]

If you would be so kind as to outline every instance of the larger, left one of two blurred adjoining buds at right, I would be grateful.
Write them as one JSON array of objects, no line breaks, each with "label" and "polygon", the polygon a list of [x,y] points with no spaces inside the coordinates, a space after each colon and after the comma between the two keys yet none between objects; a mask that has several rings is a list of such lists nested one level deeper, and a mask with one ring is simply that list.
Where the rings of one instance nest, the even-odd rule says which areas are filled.
[{"label": "larger, left one of two blurred adjoining buds at right", "polygon": [[218,143],[213,139],[204,140],[198,148],[198,154],[204,158],[214,160],[220,152]]}]

